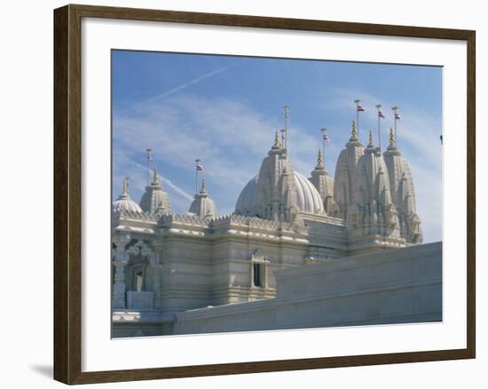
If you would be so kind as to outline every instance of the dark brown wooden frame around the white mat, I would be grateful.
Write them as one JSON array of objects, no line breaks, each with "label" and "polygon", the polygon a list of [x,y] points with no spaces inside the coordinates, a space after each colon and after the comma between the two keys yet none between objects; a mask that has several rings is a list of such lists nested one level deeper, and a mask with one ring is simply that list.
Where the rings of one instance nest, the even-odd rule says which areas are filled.
[{"label": "dark brown wooden frame around the white mat", "polygon": [[[286,361],[256,361],[158,369],[82,371],[82,19],[147,20],[248,28],[279,28],[343,34],[460,40],[467,43],[468,236],[467,347],[427,352],[382,353]],[[197,377],[292,369],[323,369],[476,355],[476,33],[471,30],[295,20],[200,12],[67,5],[54,11],[54,378],[87,384]]]}]

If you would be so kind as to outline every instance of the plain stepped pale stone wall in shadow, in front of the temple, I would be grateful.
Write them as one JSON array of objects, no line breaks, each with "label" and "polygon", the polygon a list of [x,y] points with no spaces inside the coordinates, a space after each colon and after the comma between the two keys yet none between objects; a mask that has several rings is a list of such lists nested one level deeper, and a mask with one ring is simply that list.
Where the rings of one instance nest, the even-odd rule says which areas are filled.
[{"label": "plain stepped pale stone wall in shadow, in front of the temple", "polygon": [[175,334],[442,320],[442,243],[276,272],[277,298],[177,314]]}]

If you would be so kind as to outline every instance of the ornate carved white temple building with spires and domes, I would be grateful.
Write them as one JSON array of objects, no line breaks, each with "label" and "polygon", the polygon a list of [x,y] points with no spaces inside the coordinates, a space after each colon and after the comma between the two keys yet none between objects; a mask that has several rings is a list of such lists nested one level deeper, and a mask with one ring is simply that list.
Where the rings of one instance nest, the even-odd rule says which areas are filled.
[{"label": "ornate carved white temple building with spires and domes", "polygon": [[[311,160],[314,156],[311,155]],[[189,212],[171,212],[156,171],[140,204],[127,181],[114,201],[114,334],[172,333],[175,314],[276,296],[275,272],[422,242],[408,163],[374,139],[364,147],[356,125],[333,178],[319,152],[311,178],[294,171],[286,140],[275,135],[234,213],[217,216],[205,182]],[[142,327],[141,327],[142,326]],[[117,332],[119,330],[119,332]]]}]

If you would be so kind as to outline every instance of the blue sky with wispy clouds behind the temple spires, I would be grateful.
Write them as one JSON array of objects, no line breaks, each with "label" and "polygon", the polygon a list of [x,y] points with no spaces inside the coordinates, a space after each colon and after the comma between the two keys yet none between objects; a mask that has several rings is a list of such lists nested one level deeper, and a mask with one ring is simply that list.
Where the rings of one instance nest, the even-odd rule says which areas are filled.
[{"label": "blue sky with wispy clouds behind the temple spires", "polygon": [[188,210],[195,158],[219,214],[232,212],[240,190],[259,170],[290,107],[288,148],[296,171],[309,177],[327,128],[326,169],[350,136],[361,99],[360,139],[367,143],[383,105],[382,146],[398,106],[398,147],[410,163],[425,242],[442,239],[442,68],[114,51],[113,195],[130,177],[130,197],[146,185],[146,148],[176,212]]}]

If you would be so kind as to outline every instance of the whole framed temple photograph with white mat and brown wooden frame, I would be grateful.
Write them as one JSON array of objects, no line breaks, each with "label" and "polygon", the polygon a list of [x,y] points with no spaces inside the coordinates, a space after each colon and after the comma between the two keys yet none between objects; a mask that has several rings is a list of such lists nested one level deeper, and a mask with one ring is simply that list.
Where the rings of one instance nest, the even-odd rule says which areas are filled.
[{"label": "whole framed temple photograph with white mat and brown wooden frame", "polygon": [[55,379],[475,357],[474,31],[67,5],[54,44]]}]

